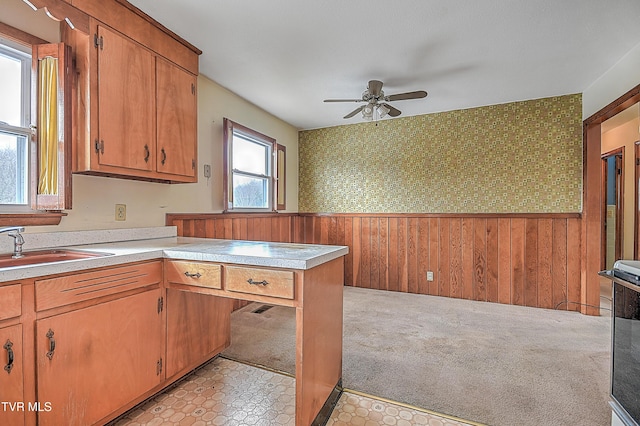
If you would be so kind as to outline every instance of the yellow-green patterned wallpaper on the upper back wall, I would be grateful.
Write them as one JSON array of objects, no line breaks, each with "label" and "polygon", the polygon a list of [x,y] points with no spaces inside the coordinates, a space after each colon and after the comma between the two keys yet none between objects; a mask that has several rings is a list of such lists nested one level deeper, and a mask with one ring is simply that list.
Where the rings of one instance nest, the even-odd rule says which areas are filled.
[{"label": "yellow-green patterned wallpaper on the upper back wall", "polygon": [[299,211],[582,210],[582,96],[301,131]]}]

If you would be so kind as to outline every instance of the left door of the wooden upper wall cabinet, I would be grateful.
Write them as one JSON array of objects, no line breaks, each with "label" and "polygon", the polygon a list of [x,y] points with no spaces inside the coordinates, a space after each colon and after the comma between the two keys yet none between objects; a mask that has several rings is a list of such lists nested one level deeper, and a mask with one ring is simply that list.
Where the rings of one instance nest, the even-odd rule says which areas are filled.
[{"label": "left door of the wooden upper wall cabinet", "polygon": [[153,171],[154,57],[108,28],[98,26],[98,38],[99,164]]}]

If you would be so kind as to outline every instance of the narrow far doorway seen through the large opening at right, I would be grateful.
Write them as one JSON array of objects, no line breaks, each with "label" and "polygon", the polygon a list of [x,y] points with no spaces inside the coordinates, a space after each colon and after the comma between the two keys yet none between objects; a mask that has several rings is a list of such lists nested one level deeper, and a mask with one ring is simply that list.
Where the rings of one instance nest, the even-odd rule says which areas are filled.
[{"label": "narrow far doorway seen through the large opening at right", "polygon": [[602,155],[603,269],[613,268],[622,259],[623,203],[624,203],[624,147]]}]

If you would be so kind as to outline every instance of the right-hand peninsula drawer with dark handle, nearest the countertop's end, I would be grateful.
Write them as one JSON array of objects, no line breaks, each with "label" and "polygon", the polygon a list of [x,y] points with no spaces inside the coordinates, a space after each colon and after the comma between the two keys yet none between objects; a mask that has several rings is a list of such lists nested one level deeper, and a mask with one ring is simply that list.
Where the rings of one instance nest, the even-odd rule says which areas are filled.
[{"label": "right-hand peninsula drawer with dark handle, nearest the countertop's end", "polygon": [[225,266],[228,291],[293,299],[293,271]]}]

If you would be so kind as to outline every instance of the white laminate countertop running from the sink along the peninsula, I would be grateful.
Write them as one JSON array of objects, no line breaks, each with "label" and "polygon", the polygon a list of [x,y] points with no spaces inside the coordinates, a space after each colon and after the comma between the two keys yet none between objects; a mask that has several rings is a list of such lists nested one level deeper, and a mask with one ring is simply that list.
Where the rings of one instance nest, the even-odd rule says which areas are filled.
[{"label": "white laminate countertop running from the sink along the peninsula", "polygon": [[[166,235],[166,232],[162,233]],[[30,234],[23,235],[25,240],[29,239]],[[95,235],[93,236],[95,237]],[[78,236],[74,235],[74,237]],[[91,236],[87,238],[91,238]],[[122,235],[118,238],[122,238]],[[59,241],[66,240],[64,236],[61,236]],[[80,237],[75,241],[86,243],[87,239]],[[56,263],[0,268],[0,283],[163,258],[305,270],[344,256],[349,252],[349,248],[346,246],[176,236],[113,242],[102,242],[104,238],[97,238],[97,241],[100,243],[55,246],[55,248],[108,253],[108,255]],[[38,247],[38,249],[42,248],[44,247]]]}]

